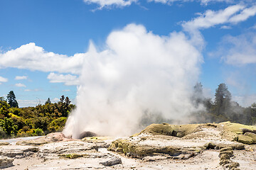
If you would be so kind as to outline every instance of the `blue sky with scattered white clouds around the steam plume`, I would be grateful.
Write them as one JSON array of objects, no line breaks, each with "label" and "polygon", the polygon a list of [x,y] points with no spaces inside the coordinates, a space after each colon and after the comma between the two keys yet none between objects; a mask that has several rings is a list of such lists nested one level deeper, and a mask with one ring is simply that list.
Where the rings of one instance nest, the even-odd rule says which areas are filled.
[{"label": "blue sky with scattered white clouds around the steam plume", "polygon": [[21,107],[61,95],[75,103],[90,42],[103,52],[111,33],[132,23],[161,38],[183,33],[200,53],[194,79],[206,96],[224,82],[234,101],[250,106],[256,102],[255,15],[250,0],[1,0],[0,96],[13,90]]}]

